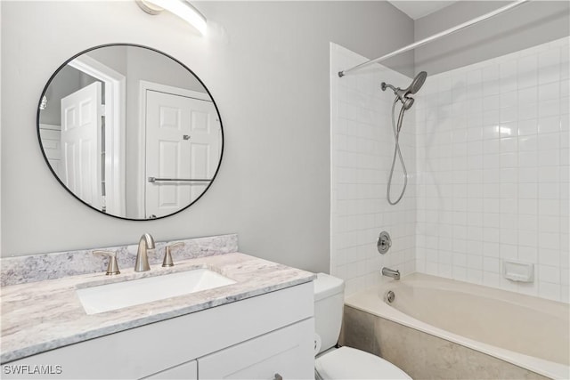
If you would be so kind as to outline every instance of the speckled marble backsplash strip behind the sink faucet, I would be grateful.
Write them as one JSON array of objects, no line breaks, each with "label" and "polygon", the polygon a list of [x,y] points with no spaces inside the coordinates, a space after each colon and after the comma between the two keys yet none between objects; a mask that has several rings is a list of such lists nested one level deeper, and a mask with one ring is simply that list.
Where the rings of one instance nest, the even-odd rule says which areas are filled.
[{"label": "speckled marble backsplash strip behind the sink faucet", "polygon": [[[134,239],[138,239],[135,237]],[[179,239],[174,241],[157,241],[154,252],[149,250],[149,263],[162,263],[164,248],[175,242],[182,242],[173,254],[176,261],[193,259],[210,255],[223,255],[238,251],[238,235],[218,235],[205,238]],[[94,255],[95,250],[106,250],[117,253],[120,271],[134,268],[137,244],[117,247],[100,247],[77,251],[56,252],[41,255],[4,257],[0,260],[1,286],[21,284],[25,282],[59,279],[87,273],[99,273],[107,268],[107,259]]]}]

